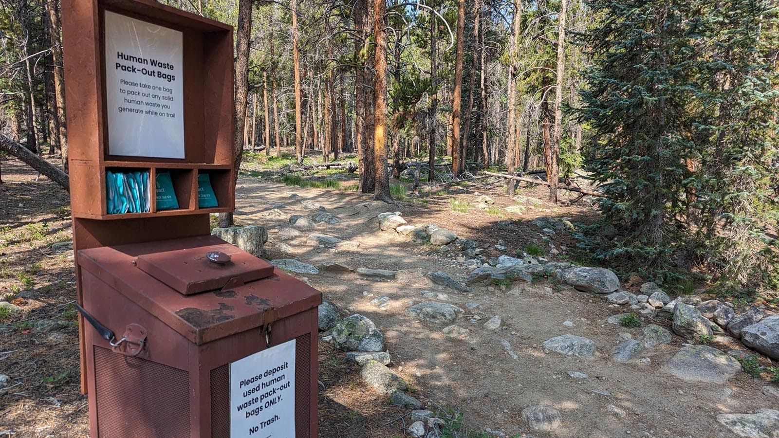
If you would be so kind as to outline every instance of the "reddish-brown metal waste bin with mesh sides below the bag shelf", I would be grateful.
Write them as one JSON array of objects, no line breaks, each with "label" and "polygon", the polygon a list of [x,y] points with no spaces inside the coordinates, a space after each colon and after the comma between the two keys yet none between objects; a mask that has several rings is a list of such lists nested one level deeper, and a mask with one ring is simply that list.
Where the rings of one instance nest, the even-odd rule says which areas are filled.
[{"label": "reddish-brown metal waste bin with mesh sides below the bag shelf", "polygon": [[319,291],[213,236],[77,262],[91,436],[314,438]]}]

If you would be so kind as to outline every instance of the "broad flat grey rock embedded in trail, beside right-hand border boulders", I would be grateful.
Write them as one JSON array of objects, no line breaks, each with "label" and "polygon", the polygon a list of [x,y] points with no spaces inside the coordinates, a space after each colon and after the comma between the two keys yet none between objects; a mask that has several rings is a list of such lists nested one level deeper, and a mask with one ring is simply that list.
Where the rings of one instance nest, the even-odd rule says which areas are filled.
[{"label": "broad flat grey rock embedded in trail, beside right-hand border boulders", "polygon": [[722,384],[741,370],[741,364],[708,345],[689,345],[668,360],[663,369],[681,380]]}]

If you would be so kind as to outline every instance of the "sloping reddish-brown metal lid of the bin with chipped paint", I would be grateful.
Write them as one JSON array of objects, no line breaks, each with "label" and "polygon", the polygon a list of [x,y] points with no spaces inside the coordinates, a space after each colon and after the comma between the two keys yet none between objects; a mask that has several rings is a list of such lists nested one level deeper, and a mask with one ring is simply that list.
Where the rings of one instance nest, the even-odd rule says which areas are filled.
[{"label": "sloping reddish-brown metal lid of the bin with chipped paint", "polygon": [[[168,281],[160,281],[149,273],[148,267],[141,269],[139,259],[153,263],[154,255],[167,253],[173,255],[189,254],[187,250],[202,253],[204,248],[217,248],[231,251],[232,260],[256,259],[249,253],[233,247],[215,236],[179,238],[162,242],[148,242],[131,245],[104,246],[101,248],[79,250],[79,267],[90,272],[100,281],[125,295],[130,301],[141,306],[158,320],[195,344],[205,344],[222,337],[241,333],[263,326],[273,320],[280,320],[296,313],[305,312],[322,303],[322,294],[316,289],[271,267],[271,274],[244,284],[231,282],[209,291],[184,295],[171,287]],[[238,256],[238,257],[236,257]],[[256,259],[257,262],[263,260]],[[254,265],[254,262],[246,262]],[[187,263],[187,269],[197,271],[198,263]],[[242,266],[242,265],[241,265]],[[210,271],[211,276],[189,274],[179,275],[179,279],[199,278],[199,284],[213,284],[208,280],[220,276],[220,271]],[[241,273],[245,272],[241,270]],[[159,272],[157,272],[159,274]],[[199,277],[198,277],[199,276]],[[184,283],[182,283],[184,284]],[[100,291],[83,290],[86,294],[100,294]]]}]

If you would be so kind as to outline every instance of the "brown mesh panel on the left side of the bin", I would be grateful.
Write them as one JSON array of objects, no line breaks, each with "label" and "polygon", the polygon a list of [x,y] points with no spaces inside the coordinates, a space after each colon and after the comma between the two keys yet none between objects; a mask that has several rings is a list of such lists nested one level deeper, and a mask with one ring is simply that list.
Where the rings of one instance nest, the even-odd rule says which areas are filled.
[{"label": "brown mesh panel on the left side of the bin", "polygon": [[94,347],[100,438],[189,435],[189,373]]}]

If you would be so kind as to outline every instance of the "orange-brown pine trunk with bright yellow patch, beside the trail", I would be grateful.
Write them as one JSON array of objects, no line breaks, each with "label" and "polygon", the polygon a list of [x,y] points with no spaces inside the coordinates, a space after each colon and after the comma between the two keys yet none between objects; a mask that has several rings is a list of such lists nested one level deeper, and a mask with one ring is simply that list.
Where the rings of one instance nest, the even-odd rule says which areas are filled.
[{"label": "orange-brown pine trunk with bright yellow patch, beside the trail", "polygon": [[386,16],[386,0],[373,0],[373,34],[376,41],[374,52],[375,79],[373,87],[373,117],[375,150],[376,186],[374,199],[386,203],[393,202],[390,196],[390,178],[387,172],[387,34],[384,23]]}]

